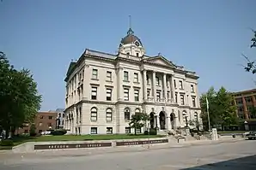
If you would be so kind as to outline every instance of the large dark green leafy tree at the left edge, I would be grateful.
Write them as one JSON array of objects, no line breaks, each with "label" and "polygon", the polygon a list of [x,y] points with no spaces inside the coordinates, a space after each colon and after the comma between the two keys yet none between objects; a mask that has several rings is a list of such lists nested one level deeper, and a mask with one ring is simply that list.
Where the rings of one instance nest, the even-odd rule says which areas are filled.
[{"label": "large dark green leafy tree at the left edge", "polygon": [[15,70],[0,52],[0,124],[6,137],[24,121],[34,121],[40,103],[41,96],[29,70]]}]

